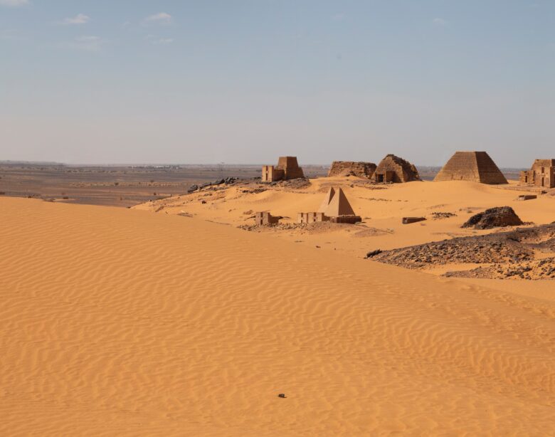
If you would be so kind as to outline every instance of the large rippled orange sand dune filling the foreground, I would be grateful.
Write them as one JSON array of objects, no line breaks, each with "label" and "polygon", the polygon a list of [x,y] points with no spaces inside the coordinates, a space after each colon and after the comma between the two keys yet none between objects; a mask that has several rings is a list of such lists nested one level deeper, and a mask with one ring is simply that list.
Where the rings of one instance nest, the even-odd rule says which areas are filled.
[{"label": "large rippled orange sand dune filling the foreground", "polygon": [[174,215],[0,223],[1,435],[553,431],[549,300]]}]

